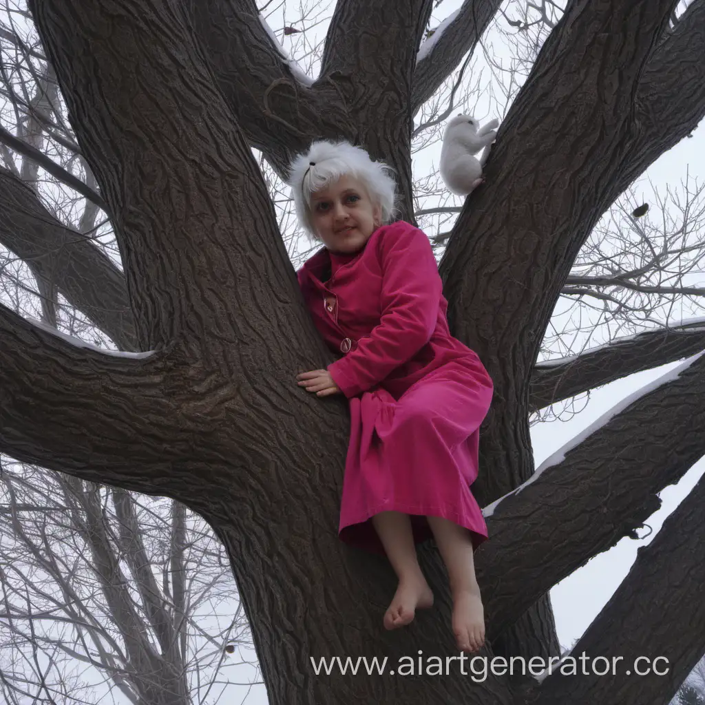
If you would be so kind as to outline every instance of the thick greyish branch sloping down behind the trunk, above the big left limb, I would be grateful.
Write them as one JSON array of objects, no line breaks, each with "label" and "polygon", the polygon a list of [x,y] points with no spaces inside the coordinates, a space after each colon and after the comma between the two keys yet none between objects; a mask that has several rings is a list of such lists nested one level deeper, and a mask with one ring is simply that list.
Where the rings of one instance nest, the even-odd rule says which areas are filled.
[{"label": "thick greyish branch sloping down behind the trunk, above the big left limb", "polygon": [[85,235],[52,216],[36,193],[0,168],[0,242],[107,333],[137,350],[135,321],[121,271]]}]

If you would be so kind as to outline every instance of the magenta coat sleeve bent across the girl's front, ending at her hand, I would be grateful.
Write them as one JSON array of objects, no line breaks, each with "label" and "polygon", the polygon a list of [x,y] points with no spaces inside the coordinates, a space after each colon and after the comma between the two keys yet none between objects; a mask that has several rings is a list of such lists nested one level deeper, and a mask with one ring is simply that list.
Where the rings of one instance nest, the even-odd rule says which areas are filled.
[{"label": "magenta coat sleeve bent across the girl's front, ending at her hand", "polygon": [[395,223],[379,241],[381,319],[357,348],[330,364],[343,394],[357,396],[407,362],[436,328],[443,285],[431,243],[409,223]]}]

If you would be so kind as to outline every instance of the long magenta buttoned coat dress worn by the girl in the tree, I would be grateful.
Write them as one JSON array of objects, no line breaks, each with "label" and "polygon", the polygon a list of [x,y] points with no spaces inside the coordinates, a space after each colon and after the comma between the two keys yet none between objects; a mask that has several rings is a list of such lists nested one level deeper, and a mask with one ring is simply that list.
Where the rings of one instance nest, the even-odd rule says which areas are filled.
[{"label": "long magenta buttoned coat dress worn by the girl in the tree", "polygon": [[364,249],[322,248],[298,271],[317,329],[341,357],[328,370],[349,400],[339,536],[384,553],[370,517],[411,516],[415,541],[426,516],[487,538],[470,485],[492,381],[473,350],[450,335],[441,278],[422,231],[404,221],[377,228]]}]

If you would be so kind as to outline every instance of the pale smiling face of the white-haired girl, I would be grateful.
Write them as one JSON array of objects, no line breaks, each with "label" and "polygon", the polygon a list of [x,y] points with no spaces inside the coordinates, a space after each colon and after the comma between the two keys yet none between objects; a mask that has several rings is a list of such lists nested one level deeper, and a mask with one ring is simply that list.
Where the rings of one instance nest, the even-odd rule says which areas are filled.
[{"label": "pale smiling face of the white-haired girl", "polygon": [[352,176],[311,195],[312,222],[323,244],[336,255],[353,255],[364,247],[381,223],[381,208]]}]

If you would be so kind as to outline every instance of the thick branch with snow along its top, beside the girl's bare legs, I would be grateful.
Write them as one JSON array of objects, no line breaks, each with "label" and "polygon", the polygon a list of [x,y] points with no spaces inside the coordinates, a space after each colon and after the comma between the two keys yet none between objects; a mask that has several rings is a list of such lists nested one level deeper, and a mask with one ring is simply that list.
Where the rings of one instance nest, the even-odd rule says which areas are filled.
[{"label": "thick branch with snow along its top, beside the girl's bare legs", "polygon": [[635,537],[658,509],[658,492],[705,453],[704,424],[699,353],[615,405],[487,507],[492,541],[477,565],[490,637],[597,553]]}]

